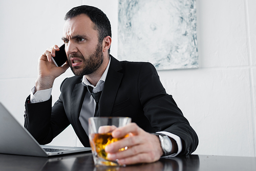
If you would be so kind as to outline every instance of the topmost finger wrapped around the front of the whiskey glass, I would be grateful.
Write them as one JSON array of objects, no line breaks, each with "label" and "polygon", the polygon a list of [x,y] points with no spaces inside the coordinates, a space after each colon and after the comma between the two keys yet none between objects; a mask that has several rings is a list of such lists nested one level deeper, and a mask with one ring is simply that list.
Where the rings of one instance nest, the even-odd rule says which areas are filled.
[{"label": "topmost finger wrapped around the front of the whiskey glass", "polygon": [[120,138],[123,137],[129,133],[132,133],[133,135],[140,134],[142,129],[136,124],[136,123],[129,123],[126,126],[118,127],[116,130],[112,132],[112,136],[114,138]]}]

